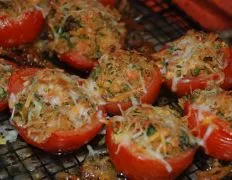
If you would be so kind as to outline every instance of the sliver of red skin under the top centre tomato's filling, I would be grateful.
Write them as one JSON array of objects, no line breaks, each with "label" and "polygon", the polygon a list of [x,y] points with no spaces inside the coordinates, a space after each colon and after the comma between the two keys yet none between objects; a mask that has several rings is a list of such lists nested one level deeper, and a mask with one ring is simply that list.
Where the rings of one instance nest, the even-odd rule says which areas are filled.
[{"label": "sliver of red skin under the top centre tomato's filling", "polygon": [[97,60],[91,60],[78,52],[65,52],[59,55],[60,60],[77,69],[91,71],[97,64]]}]

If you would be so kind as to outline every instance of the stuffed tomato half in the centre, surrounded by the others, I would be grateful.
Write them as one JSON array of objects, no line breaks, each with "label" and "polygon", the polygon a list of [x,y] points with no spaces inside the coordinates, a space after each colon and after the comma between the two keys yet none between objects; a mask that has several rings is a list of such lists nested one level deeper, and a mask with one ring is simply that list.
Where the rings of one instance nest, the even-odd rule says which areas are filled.
[{"label": "stuffed tomato half in the centre, surrounded by the others", "polygon": [[110,114],[132,105],[152,104],[162,83],[151,58],[134,51],[116,50],[101,57],[83,88]]}]

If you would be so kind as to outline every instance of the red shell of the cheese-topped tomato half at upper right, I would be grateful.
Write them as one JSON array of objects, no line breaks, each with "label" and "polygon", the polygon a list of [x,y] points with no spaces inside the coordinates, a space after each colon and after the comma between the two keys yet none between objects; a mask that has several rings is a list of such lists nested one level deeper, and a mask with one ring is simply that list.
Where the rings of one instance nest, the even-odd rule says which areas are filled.
[{"label": "red shell of the cheese-topped tomato half at upper right", "polygon": [[[231,89],[232,88],[232,49],[225,50],[226,55],[226,63],[227,66],[223,70],[225,75],[225,79],[221,88],[223,89]],[[186,77],[180,79],[176,84],[175,93],[178,96],[184,96],[186,94],[190,94],[195,89],[205,89],[208,85],[208,81],[217,80],[220,78],[219,73],[210,74],[207,76],[198,76],[198,77]],[[171,89],[172,80],[166,80],[165,84]]]}]

